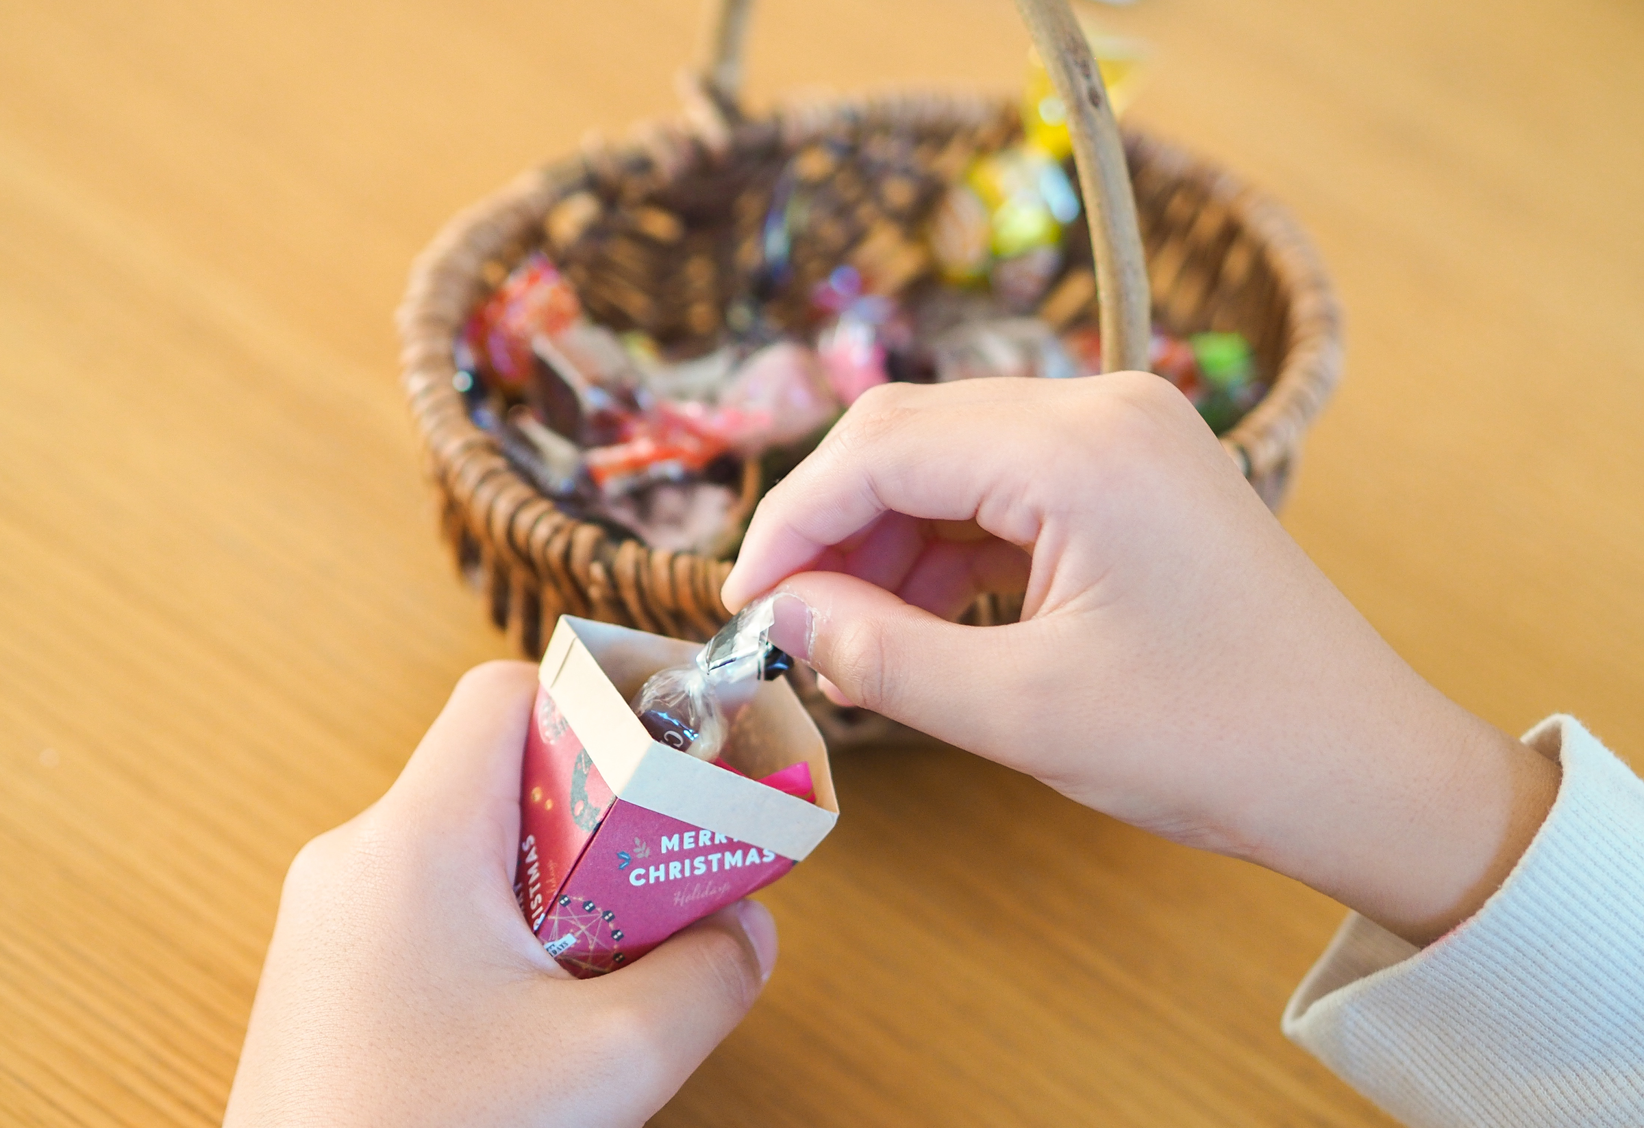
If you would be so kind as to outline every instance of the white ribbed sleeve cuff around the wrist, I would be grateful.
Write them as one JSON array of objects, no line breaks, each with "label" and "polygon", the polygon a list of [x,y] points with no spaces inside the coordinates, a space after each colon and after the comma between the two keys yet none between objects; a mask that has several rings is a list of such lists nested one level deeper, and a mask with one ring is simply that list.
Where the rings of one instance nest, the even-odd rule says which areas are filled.
[{"label": "white ribbed sleeve cuff around the wrist", "polygon": [[1425,949],[1348,916],[1284,1033],[1412,1128],[1637,1128],[1644,781],[1572,717],[1524,740],[1563,779],[1501,890]]}]

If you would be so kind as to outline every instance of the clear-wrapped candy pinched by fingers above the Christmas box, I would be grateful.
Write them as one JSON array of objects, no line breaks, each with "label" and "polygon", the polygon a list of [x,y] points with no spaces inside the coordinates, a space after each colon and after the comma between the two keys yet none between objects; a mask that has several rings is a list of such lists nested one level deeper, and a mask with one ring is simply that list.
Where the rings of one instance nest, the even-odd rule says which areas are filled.
[{"label": "clear-wrapped candy pinched by fingers above the Christmas box", "polygon": [[651,738],[699,760],[718,760],[760,682],[792,666],[792,658],[771,645],[774,623],[774,600],[755,600],[720,628],[694,663],[653,674],[633,699]]}]

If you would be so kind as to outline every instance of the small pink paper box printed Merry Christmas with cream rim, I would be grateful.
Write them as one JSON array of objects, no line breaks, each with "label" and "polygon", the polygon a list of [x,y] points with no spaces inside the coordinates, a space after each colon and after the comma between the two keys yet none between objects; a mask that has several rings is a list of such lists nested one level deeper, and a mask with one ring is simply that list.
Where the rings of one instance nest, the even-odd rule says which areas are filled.
[{"label": "small pink paper box printed Merry Christmas with cream rim", "polygon": [[[838,821],[827,748],[784,679],[722,763],[651,740],[628,707],[695,643],[562,615],[543,656],[520,788],[515,893],[544,950],[603,975],[787,873]],[[809,771],[815,802],[802,789]],[[740,774],[738,774],[740,773]],[[776,776],[784,789],[760,783]]]}]

